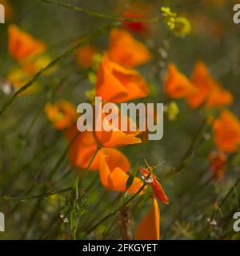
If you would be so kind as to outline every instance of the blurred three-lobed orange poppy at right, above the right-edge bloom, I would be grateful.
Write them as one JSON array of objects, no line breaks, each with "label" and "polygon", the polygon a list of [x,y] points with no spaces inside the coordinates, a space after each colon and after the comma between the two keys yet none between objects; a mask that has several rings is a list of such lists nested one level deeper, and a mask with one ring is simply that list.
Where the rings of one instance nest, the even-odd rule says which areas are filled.
[{"label": "blurred three-lobed orange poppy at right, above the right-edge bloom", "polygon": [[233,102],[230,91],[222,89],[203,62],[195,64],[191,81],[197,90],[186,99],[190,107],[197,108],[203,104],[206,107],[226,106]]}]

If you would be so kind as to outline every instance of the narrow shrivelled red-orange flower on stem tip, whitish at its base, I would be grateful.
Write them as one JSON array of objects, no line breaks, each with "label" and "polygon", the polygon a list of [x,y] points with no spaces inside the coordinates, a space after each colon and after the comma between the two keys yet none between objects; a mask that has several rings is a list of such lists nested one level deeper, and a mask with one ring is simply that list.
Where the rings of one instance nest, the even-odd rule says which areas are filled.
[{"label": "narrow shrivelled red-orange flower on stem tip, whitish at its base", "polygon": [[[154,175],[152,172],[150,173],[149,170],[146,170],[146,169],[142,169],[141,173],[142,173],[142,178],[145,180],[145,182],[150,183],[150,186],[153,188],[154,194],[158,198],[158,200],[160,202],[163,202],[166,205],[168,205],[169,200],[168,200],[164,190],[162,189],[161,184],[158,182],[157,176]],[[150,174],[150,176],[149,176],[149,174]],[[146,180],[146,178],[147,178],[147,180]]]}]

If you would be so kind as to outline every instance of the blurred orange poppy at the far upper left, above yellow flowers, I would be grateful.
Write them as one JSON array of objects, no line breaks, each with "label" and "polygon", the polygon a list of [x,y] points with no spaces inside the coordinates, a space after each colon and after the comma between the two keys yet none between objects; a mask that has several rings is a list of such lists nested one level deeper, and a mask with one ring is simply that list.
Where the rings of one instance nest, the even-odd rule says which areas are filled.
[{"label": "blurred orange poppy at the far upper left, above yellow flowers", "polygon": [[8,50],[17,61],[29,58],[34,54],[42,54],[46,50],[43,42],[22,31],[18,26],[8,27]]}]

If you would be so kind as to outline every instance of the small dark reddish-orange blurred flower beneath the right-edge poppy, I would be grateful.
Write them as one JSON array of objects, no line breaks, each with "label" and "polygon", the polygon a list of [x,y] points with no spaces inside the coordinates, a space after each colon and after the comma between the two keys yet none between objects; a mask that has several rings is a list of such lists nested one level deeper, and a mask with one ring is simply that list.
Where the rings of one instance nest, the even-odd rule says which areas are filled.
[{"label": "small dark reddish-orange blurred flower beneath the right-edge poppy", "polygon": [[222,152],[210,154],[210,170],[214,172],[214,180],[222,178],[226,166],[227,155]]}]

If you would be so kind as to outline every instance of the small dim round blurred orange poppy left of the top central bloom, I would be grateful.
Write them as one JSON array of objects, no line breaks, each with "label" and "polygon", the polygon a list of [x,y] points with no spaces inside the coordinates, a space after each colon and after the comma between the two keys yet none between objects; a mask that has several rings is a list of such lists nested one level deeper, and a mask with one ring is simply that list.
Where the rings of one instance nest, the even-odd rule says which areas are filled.
[{"label": "small dim round blurred orange poppy left of the top central bloom", "polygon": [[94,48],[94,46],[91,46],[90,44],[82,46],[76,53],[78,65],[85,69],[90,68],[93,66],[94,55],[97,53],[98,51]]}]

